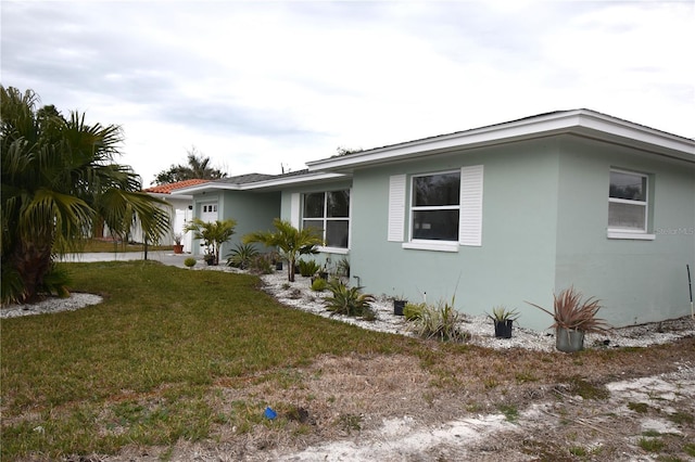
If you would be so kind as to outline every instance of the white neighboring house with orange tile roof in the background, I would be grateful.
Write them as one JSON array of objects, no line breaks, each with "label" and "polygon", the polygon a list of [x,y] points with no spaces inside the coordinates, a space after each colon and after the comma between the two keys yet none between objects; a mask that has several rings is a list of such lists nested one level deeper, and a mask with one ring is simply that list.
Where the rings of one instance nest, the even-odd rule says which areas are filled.
[{"label": "white neighboring house with orange tile roof in the background", "polygon": [[[176,183],[160,184],[143,190],[154,197],[166,201],[172,206],[172,231],[169,235],[164,239],[163,244],[174,244],[174,235],[181,234],[181,244],[184,244],[184,252],[191,252],[193,241],[192,233],[184,232],[184,227],[186,227],[186,223],[193,218],[193,196],[189,194],[173,195],[172,193],[176,190],[204,184],[207,182],[210,182],[210,180],[185,180],[178,181]],[[138,226],[135,227],[132,239],[136,242],[142,242],[143,240],[142,231]]]}]

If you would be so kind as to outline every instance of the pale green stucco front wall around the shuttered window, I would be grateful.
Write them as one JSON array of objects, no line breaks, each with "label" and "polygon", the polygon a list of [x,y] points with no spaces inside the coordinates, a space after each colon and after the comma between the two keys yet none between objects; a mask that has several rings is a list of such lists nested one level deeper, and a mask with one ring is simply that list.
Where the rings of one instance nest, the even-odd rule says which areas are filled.
[{"label": "pale green stucco front wall around the shuttered window", "polygon": [[[484,166],[482,246],[457,253],[404,249],[387,241],[389,177]],[[351,266],[365,291],[450,301],[481,315],[517,308],[519,322],[552,320],[523,300],[552,303],[555,282],[558,154],[553,140],[478,150],[358,170],[353,176]],[[409,181],[408,181],[409,190]],[[409,197],[409,191],[408,191]],[[407,238],[406,238],[407,239]]]}]

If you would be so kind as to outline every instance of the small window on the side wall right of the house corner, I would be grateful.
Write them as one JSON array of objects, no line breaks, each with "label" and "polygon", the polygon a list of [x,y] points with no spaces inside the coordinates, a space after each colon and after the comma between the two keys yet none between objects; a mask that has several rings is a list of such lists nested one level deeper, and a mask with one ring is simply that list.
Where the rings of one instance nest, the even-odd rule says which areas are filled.
[{"label": "small window on the side wall right of the house corner", "polygon": [[647,232],[648,178],[646,175],[610,170],[608,229],[624,233]]}]

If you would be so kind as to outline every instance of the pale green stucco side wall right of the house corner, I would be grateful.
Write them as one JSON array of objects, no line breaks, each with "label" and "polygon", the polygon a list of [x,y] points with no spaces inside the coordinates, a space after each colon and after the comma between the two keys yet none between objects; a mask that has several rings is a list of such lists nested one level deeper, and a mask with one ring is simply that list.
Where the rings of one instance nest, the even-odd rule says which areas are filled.
[{"label": "pale green stucco side wall right of the house corner", "polygon": [[[557,290],[603,300],[616,326],[690,313],[686,265],[695,265],[695,167],[579,138],[563,140]],[[654,241],[607,238],[611,167],[649,175]]]}]

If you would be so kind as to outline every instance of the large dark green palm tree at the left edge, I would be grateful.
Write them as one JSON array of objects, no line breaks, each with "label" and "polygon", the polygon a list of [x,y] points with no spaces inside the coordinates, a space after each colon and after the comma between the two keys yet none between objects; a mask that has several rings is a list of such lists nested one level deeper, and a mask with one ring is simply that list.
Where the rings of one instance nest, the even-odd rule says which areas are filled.
[{"label": "large dark green palm tree at the left edge", "polygon": [[140,220],[150,242],[169,229],[167,204],[141,192],[139,177],[115,164],[118,126],[89,126],[85,115],[36,110],[39,98],[0,86],[2,300],[64,293],[54,257],[79,249],[94,220],[125,235]]}]

